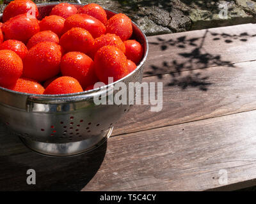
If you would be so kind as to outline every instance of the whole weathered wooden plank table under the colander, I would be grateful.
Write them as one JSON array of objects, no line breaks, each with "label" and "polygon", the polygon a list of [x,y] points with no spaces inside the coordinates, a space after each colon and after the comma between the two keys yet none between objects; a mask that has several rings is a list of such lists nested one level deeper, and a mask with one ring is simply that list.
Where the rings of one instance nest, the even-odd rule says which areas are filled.
[{"label": "whole weathered wooden plank table under the colander", "polygon": [[[163,110],[134,106],[108,143],[40,156],[1,126],[0,190],[205,191],[256,184],[256,25],[148,37],[145,82]],[[36,170],[36,185],[26,171]],[[221,182],[224,175],[227,178]],[[222,180],[223,181],[223,180]]]}]

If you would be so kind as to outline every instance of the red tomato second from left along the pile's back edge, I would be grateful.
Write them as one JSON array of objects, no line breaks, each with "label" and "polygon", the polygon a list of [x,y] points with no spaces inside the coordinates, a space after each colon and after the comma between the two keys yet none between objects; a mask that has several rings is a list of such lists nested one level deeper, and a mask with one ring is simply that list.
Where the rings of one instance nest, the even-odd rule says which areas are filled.
[{"label": "red tomato second from left along the pile's back edge", "polygon": [[76,6],[68,3],[60,3],[52,8],[50,15],[58,15],[60,17],[67,18],[70,17],[70,15],[74,15],[76,13]]}]

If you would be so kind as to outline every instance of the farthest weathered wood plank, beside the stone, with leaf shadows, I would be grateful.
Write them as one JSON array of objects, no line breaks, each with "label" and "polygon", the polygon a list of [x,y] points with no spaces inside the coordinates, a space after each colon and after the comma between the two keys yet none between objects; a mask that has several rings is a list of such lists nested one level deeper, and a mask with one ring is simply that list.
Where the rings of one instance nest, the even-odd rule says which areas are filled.
[{"label": "farthest weathered wood plank, beside the stone, with leaf shadows", "polygon": [[256,25],[217,27],[148,37],[145,76],[256,59]]}]

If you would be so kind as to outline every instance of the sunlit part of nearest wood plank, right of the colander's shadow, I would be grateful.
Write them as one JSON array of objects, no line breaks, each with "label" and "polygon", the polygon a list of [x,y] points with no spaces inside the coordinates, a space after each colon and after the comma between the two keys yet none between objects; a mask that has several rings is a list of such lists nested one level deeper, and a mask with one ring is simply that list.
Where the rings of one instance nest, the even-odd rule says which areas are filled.
[{"label": "sunlit part of nearest wood plank, right of the colander's shadow", "polygon": [[[229,185],[234,190],[255,185],[255,123],[252,111],[112,137],[99,171],[83,191],[204,191]],[[225,172],[227,184],[220,181]]]}]

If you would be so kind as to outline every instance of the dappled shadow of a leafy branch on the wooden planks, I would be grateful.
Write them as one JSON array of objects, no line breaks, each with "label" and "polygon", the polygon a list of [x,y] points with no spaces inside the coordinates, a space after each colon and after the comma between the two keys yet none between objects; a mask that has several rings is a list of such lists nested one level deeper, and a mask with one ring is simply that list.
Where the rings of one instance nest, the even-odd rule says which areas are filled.
[{"label": "dappled shadow of a leafy branch on the wooden planks", "polygon": [[[180,36],[175,40],[173,40],[173,38],[166,40],[158,37],[156,38],[157,41],[150,42],[150,44],[158,46],[163,52],[170,50],[172,47],[179,48],[181,51],[177,54],[178,56],[175,57],[175,59],[182,58],[183,60],[180,62],[177,60],[164,61],[162,66],[152,64],[150,65],[151,70],[145,72],[145,74],[156,75],[162,78],[163,76],[159,73],[168,73],[171,77],[171,81],[166,84],[168,86],[178,86],[182,90],[189,87],[196,87],[200,89],[200,91],[207,91],[212,84],[211,77],[214,76],[205,76],[203,71],[205,68],[221,65],[235,68],[233,62],[223,60],[220,54],[211,54],[209,51],[205,50],[205,38],[207,37],[207,39],[209,39],[209,36],[213,42],[223,41],[223,43],[230,44],[234,41],[248,41],[250,38],[255,37],[256,34],[214,33],[207,29],[205,30],[204,36],[200,38]],[[170,55],[172,55],[171,51]],[[200,73],[198,73],[198,70]],[[186,71],[186,73],[189,71],[189,75],[182,75],[183,71]]]}]

